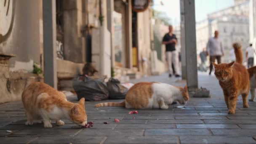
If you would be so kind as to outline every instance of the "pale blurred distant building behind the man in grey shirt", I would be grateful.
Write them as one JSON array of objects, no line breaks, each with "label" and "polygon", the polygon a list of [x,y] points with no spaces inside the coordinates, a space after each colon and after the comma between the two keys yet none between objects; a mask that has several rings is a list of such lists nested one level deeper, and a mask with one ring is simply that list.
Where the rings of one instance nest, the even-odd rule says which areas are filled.
[{"label": "pale blurred distant building behind the man in grey shirt", "polygon": [[[197,53],[206,47],[214,31],[219,30],[219,38],[224,48],[222,62],[231,61],[232,43],[240,42],[243,53],[249,43],[249,0],[235,0],[235,5],[208,14],[208,18],[197,23]],[[245,55],[244,55],[245,57]]]}]

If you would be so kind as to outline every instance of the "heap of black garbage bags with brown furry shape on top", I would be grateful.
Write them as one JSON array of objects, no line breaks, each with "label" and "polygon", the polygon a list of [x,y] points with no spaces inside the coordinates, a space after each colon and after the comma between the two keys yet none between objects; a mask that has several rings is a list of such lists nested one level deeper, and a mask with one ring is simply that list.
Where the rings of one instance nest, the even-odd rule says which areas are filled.
[{"label": "heap of black garbage bags with brown furry shape on top", "polygon": [[73,81],[73,88],[77,99],[85,98],[86,101],[102,101],[107,99],[125,99],[125,95],[132,83],[121,84],[119,80],[111,77],[105,82],[105,76],[95,76],[98,72],[93,66],[85,64],[84,74]]}]

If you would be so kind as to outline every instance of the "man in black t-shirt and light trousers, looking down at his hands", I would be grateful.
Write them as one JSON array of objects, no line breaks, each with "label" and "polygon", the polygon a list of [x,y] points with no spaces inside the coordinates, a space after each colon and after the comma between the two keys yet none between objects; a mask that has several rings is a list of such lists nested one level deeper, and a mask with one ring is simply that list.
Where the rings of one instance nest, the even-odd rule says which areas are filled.
[{"label": "man in black t-shirt and light trousers, looking down at his hands", "polygon": [[173,27],[169,26],[169,32],[165,34],[162,42],[162,44],[165,44],[165,56],[168,64],[169,77],[171,77],[174,73],[172,70],[172,63],[174,66],[175,77],[180,77],[178,73],[179,72],[179,61],[178,61],[179,54],[177,53],[175,48],[176,43],[177,43],[177,37],[176,35],[173,34]]}]

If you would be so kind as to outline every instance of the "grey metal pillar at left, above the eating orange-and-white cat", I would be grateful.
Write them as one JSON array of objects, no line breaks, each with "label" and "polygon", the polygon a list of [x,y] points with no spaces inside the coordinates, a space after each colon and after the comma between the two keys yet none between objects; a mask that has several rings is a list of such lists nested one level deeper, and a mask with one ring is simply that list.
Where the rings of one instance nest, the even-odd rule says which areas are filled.
[{"label": "grey metal pillar at left, above the eating orange-and-white cat", "polygon": [[57,88],[56,1],[43,0],[44,82]]}]

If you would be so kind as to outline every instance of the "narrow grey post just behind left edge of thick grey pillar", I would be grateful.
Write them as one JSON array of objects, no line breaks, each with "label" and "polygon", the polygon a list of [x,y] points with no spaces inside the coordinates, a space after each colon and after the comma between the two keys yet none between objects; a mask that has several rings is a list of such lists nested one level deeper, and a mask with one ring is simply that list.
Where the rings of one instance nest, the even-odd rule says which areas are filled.
[{"label": "narrow grey post just behind left edge of thick grey pillar", "polygon": [[185,28],[184,28],[184,0],[180,0],[181,11],[181,77],[182,80],[186,80],[186,50],[185,50]]}]

